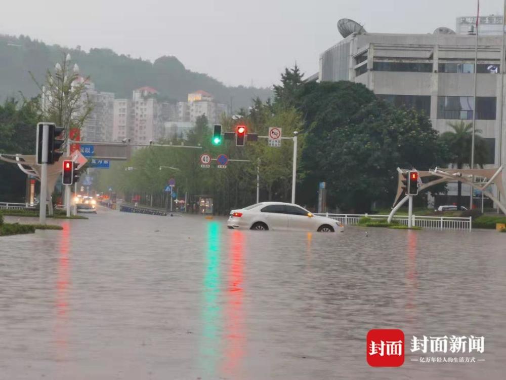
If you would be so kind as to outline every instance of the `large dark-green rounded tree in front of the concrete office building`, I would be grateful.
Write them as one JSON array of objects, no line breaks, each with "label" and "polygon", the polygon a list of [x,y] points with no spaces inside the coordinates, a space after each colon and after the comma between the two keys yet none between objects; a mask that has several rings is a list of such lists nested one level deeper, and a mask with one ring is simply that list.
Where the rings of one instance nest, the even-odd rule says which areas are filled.
[{"label": "large dark-green rounded tree in front of the concrete office building", "polygon": [[368,212],[395,196],[397,167],[428,169],[441,162],[438,133],[413,109],[378,100],[351,82],[309,83],[300,93],[305,117],[301,199],[316,203],[327,182],[329,206]]}]

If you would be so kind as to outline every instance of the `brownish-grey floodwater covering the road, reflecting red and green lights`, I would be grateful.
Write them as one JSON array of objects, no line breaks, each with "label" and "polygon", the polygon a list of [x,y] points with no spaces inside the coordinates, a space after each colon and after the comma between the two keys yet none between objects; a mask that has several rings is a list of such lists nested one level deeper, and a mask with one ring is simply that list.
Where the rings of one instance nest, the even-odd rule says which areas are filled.
[{"label": "brownish-grey floodwater covering the road, reflecting red and green lights", "polygon": [[[108,209],[89,217],[0,238],[0,379],[506,373],[506,234],[232,231],[223,218]],[[367,364],[372,328],[404,331],[401,367]],[[410,336],[453,334],[484,336],[484,360],[412,361]]]}]

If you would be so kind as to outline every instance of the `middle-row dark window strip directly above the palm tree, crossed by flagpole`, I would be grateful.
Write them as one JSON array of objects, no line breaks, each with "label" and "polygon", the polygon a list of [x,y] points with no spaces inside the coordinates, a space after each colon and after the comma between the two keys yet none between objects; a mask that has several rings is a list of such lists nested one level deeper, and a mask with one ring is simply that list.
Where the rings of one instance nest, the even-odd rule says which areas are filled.
[{"label": "middle-row dark window strip directly above the palm tree, crossed by flagpole", "polygon": [[[495,96],[476,97],[476,119],[495,120]],[[473,119],[472,96],[438,96],[438,119]]]}]

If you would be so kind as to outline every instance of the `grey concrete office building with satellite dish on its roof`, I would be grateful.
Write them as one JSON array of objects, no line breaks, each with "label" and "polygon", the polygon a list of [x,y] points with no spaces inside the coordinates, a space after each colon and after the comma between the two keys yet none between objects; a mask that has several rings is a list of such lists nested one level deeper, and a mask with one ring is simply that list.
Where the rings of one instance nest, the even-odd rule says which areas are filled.
[{"label": "grey concrete office building with satellite dish on its roof", "polygon": [[[344,39],[320,55],[320,81],[362,83],[379,98],[425,112],[440,132],[451,130],[452,122],[472,123],[475,35],[448,28],[428,34],[367,33],[351,20],[340,23]],[[499,136],[501,46],[501,35],[478,39],[476,128],[489,146],[487,164],[495,165],[500,138],[502,162],[506,147],[504,133]]]}]

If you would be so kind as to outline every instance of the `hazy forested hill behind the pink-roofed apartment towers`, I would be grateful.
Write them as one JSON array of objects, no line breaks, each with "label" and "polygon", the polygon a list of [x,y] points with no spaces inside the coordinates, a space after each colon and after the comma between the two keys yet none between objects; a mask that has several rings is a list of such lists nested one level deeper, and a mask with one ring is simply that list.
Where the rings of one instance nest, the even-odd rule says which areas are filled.
[{"label": "hazy forested hill behind the pink-roofed apartment towers", "polygon": [[89,53],[59,45],[49,46],[30,37],[0,34],[0,101],[7,96],[26,97],[37,94],[31,71],[39,83],[44,81],[48,68],[61,61],[63,52],[70,53],[72,62],[79,65],[83,76],[90,75],[99,91],[113,92],[116,98],[131,98],[132,90],[152,86],[167,100],[187,100],[196,90],[205,90],[219,102],[230,103],[234,110],[251,105],[251,99],[272,97],[272,89],[254,87],[227,87],[207,74],[193,72],[174,56],[163,56],[153,63],[118,55],[110,49],[91,49]]}]

